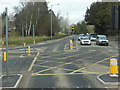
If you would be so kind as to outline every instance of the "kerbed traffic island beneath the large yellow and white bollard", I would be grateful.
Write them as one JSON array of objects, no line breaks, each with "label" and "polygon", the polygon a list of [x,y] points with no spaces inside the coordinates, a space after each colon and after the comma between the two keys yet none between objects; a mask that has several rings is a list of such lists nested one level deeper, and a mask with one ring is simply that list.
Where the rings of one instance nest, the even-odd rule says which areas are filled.
[{"label": "kerbed traffic island beneath the large yellow and white bollard", "polygon": [[119,77],[111,77],[110,74],[100,74],[97,79],[104,85],[120,85]]}]

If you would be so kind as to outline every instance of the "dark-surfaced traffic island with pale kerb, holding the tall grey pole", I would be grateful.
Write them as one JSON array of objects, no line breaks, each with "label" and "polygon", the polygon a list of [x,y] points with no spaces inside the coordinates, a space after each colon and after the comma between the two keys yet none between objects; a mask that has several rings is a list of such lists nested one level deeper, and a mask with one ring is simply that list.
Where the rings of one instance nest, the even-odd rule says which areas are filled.
[{"label": "dark-surfaced traffic island with pale kerb, holding the tall grey pole", "polygon": [[0,79],[2,80],[2,86],[0,87],[1,88],[17,88],[22,77],[23,76],[21,74],[14,74],[9,76],[2,75],[0,77]]}]

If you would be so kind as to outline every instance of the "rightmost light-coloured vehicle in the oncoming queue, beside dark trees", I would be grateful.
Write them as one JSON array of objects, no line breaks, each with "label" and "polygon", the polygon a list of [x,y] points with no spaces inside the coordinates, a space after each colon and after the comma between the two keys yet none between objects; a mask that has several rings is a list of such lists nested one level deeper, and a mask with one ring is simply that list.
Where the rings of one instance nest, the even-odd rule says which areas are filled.
[{"label": "rightmost light-coloured vehicle in the oncoming queue, beside dark trees", "polygon": [[108,46],[109,41],[105,35],[97,35],[96,45],[106,45]]}]

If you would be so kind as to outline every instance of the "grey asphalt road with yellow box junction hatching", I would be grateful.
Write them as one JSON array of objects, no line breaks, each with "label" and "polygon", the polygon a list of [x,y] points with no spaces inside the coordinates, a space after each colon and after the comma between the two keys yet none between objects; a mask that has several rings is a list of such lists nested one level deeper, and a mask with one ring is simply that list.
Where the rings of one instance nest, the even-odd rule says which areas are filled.
[{"label": "grey asphalt road with yellow box junction hatching", "polygon": [[[75,39],[69,49],[69,40]],[[31,55],[24,49],[9,50],[9,74],[21,73],[19,88],[107,88],[97,76],[109,73],[109,60],[118,58],[118,49],[110,46],[80,45],[77,36],[36,44]],[[3,74],[6,71],[3,62]]]}]

